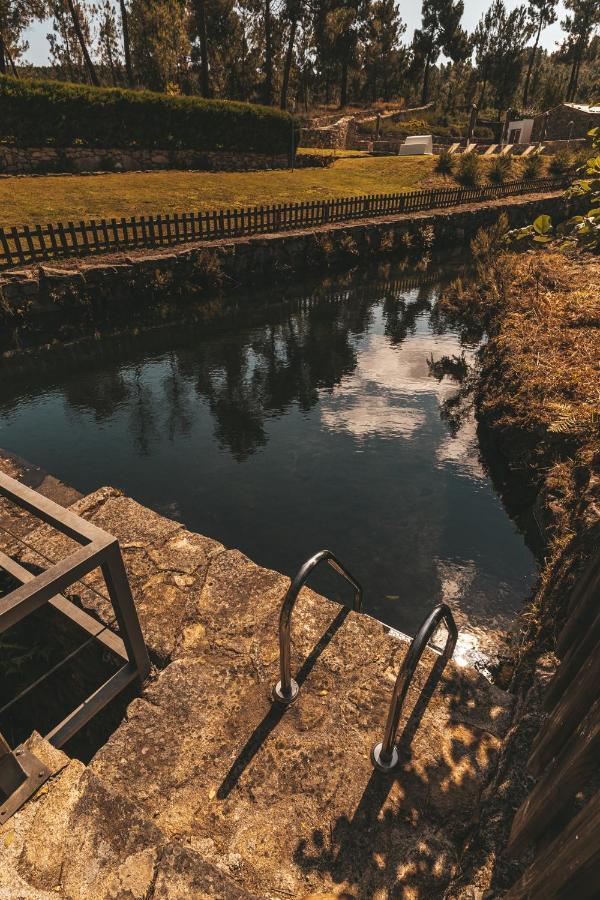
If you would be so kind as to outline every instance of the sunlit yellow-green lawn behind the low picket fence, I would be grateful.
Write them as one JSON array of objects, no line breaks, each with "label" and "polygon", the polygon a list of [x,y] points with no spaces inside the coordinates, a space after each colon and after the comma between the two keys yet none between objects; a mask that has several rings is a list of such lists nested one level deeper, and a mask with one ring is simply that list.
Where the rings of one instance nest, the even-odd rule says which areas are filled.
[{"label": "sunlit yellow-green lawn behind the low picket fence", "polygon": [[447,183],[432,157],[352,157],[327,169],[0,179],[0,225],[189,212],[393,193]]}]

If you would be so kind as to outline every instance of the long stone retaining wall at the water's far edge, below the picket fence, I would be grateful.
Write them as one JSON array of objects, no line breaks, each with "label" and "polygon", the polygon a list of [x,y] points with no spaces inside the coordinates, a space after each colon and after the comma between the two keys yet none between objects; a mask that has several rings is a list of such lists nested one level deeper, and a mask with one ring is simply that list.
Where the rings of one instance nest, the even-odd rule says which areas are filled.
[{"label": "long stone retaining wall at the water's far edge, below the picket fence", "polygon": [[[199,299],[240,285],[290,279],[310,269],[353,266],[392,254],[422,256],[435,245],[467,247],[478,229],[506,212],[512,227],[540,213],[566,214],[564,197],[515,198],[463,207],[331,225],[316,231],[258,235],[233,241],[179,245],[162,252],[73,260],[0,276],[0,317],[19,321],[92,305],[120,310],[161,299]],[[571,208],[573,211],[573,208]]]}]

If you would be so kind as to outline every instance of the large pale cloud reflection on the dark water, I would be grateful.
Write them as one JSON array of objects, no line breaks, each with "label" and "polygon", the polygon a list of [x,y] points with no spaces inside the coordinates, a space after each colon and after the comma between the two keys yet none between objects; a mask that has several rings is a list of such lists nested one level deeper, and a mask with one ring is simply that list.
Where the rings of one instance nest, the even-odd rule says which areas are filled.
[{"label": "large pale cloud reflection on the dark water", "polygon": [[321,397],[323,425],[358,438],[412,436],[427,418],[424,410],[411,405],[412,398],[429,395],[442,403],[457,389],[450,379],[438,382],[429,375],[432,346],[436,358],[462,352],[453,335],[432,341],[431,334],[414,334],[410,344],[402,346],[393,346],[384,335],[372,335],[359,348],[352,375]]}]

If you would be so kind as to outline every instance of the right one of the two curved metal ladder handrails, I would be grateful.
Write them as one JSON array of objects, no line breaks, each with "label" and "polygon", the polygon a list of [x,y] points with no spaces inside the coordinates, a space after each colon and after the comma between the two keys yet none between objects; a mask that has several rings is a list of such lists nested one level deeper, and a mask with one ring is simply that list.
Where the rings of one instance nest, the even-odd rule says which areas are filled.
[{"label": "right one of the two curved metal ladder handrails", "polygon": [[400,671],[392,693],[392,701],[390,703],[383,740],[380,743],[375,744],[371,751],[373,765],[382,772],[389,772],[398,763],[399,754],[395,741],[402,706],[406,699],[413,675],[419,664],[419,660],[427,647],[429,639],[442,619],[445,620],[448,628],[448,638],[442,655],[448,660],[454,653],[454,648],[456,647],[456,641],[458,639],[458,629],[456,628],[456,623],[450,607],[445,603],[441,603],[432,610],[417,631],[408,648],[408,653],[400,666]]}]

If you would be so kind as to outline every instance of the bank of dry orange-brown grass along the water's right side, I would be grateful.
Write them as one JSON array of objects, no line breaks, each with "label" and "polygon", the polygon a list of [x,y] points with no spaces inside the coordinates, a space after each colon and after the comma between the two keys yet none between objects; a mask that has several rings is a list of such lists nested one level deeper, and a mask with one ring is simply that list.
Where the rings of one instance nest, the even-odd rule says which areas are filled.
[{"label": "bank of dry orange-brown grass along the water's right side", "polygon": [[[504,891],[521,866],[506,850],[529,788],[526,761],[554,673],[571,590],[600,537],[600,260],[560,252],[490,253],[479,287],[455,288],[446,310],[471,308],[489,341],[477,386],[482,427],[531,486],[544,561],[513,635],[507,684],[516,713],[461,883]],[[593,698],[590,698],[590,703]],[[460,892],[451,894],[460,896]]]}]

